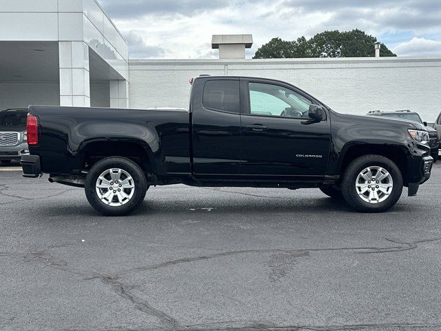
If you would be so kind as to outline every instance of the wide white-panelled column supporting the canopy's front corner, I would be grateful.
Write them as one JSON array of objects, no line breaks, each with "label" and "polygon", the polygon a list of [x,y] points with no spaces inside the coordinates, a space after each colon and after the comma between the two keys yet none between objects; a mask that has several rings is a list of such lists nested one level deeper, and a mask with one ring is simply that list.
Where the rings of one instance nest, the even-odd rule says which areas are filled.
[{"label": "wide white-panelled column supporting the canopy's front corner", "polygon": [[89,47],[59,41],[60,106],[90,107]]}]

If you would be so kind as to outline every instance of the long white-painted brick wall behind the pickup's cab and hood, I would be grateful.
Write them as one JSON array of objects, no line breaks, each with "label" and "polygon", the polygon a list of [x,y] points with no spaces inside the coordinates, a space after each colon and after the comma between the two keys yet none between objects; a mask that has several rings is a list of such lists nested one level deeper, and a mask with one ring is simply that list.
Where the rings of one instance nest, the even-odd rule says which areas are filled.
[{"label": "long white-painted brick wall behind the pickup's cab and hood", "polygon": [[130,107],[187,108],[190,77],[200,74],[280,79],[334,110],[410,109],[433,122],[441,111],[441,59],[283,59],[130,61]]}]

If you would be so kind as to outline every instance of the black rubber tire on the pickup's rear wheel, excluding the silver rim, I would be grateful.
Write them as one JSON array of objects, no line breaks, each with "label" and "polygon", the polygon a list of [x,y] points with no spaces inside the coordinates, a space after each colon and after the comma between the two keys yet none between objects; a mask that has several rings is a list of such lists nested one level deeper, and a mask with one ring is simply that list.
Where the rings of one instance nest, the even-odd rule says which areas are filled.
[{"label": "black rubber tire on the pickup's rear wheel, excluding the silver rim", "polygon": [[[106,204],[101,201],[98,193],[96,192],[97,180],[99,179],[101,174],[103,174],[103,172],[106,172],[107,170],[110,171],[111,169],[121,169],[123,170],[123,172],[127,172],[127,174],[130,174],[130,177],[132,177],[132,181],[130,182],[134,186],[134,192],[130,199],[125,198],[127,199],[127,202],[125,202],[123,205]],[[127,179],[127,177],[125,177],[125,174],[121,174],[121,178]],[[122,183],[121,180],[120,183]],[[116,189],[118,188],[116,187],[115,190]],[[107,157],[106,159],[102,159],[92,166],[90,172],[88,173],[88,176],[85,178],[85,196],[88,198],[90,205],[92,205],[92,207],[97,212],[100,212],[105,216],[124,216],[130,214],[131,212],[136,210],[136,208],[138,208],[139,205],[143,202],[147,189],[147,181],[145,180],[145,174],[143,170],[141,170],[141,168],[139,168],[139,165],[137,165],[133,161],[130,161],[129,159],[125,159],[123,157]],[[116,192],[115,190],[113,192]],[[122,188],[122,190],[123,192],[127,192],[127,190],[129,190],[129,194],[130,192],[132,192],[131,188]],[[110,190],[105,189],[104,192],[110,192]],[[114,195],[112,195],[112,192],[110,192],[110,194],[113,197],[112,201],[115,201],[110,201],[110,203],[118,203],[117,201],[119,201],[119,197],[115,197]]]}]

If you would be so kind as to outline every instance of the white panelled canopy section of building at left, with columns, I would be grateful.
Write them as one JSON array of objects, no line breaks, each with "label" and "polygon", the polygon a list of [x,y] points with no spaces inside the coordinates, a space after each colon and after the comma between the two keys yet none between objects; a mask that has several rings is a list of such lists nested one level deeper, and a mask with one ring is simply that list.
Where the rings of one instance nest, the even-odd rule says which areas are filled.
[{"label": "white panelled canopy section of building at left, with columns", "polygon": [[128,106],[128,46],[94,0],[2,0],[0,109]]}]

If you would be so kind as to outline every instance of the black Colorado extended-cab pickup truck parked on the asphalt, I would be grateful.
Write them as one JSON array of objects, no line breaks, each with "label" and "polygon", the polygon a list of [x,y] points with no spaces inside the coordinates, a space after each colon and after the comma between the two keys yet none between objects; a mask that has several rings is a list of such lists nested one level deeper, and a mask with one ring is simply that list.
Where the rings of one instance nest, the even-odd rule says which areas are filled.
[{"label": "black Colorado extended-cab pickup truck parked on the asphalt", "polygon": [[429,179],[422,124],[334,112],[271,79],[198,77],[189,110],[30,106],[24,177],[85,188],[106,215],[135,210],[151,185],[320,188],[362,212]]}]

